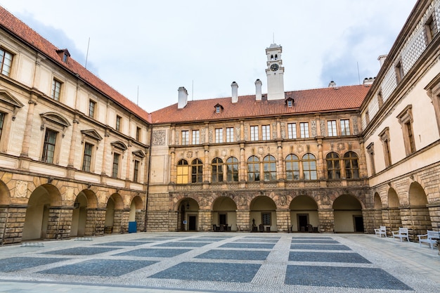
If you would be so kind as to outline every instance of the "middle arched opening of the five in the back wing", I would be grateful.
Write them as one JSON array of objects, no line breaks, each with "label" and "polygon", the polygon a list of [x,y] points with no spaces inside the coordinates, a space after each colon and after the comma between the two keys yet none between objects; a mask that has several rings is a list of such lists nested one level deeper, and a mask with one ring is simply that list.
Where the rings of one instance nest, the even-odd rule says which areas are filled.
[{"label": "middle arched opening of the five in the back wing", "polygon": [[250,225],[258,230],[276,231],[276,204],[271,197],[259,195],[250,202]]}]

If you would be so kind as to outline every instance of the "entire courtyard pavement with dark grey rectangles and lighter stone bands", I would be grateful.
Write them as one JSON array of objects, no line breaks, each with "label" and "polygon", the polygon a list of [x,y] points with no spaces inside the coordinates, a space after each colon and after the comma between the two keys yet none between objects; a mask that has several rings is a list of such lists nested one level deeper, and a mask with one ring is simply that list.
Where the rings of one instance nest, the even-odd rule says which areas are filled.
[{"label": "entire courtyard pavement with dark grey rectangles and lighter stone bands", "polygon": [[0,292],[440,292],[440,256],[361,234],[132,233],[0,247]]}]

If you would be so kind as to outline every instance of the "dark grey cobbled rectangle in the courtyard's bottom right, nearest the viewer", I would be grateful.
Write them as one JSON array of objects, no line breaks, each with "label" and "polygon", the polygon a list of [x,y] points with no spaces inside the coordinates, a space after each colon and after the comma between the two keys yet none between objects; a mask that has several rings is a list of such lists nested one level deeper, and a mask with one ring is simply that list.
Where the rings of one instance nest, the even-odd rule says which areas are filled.
[{"label": "dark grey cobbled rectangle in the courtyard's bottom right, nearest the viewer", "polygon": [[285,284],[413,290],[381,268],[287,266]]}]

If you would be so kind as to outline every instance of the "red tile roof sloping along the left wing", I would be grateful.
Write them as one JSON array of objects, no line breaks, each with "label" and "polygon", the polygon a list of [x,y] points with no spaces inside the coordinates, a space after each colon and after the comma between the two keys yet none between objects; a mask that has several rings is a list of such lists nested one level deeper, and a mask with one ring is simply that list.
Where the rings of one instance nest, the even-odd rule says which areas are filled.
[{"label": "red tile roof sloping along the left wing", "polygon": [[15,37],[22,39],[22,41],[35,48],[45,56],[48,56],[48,58],[51,58],[53,62],[57,63],[61,67],[64,67],[67,71],[70,71],[73,74],[79,74],[79,78],[83,79],[84,82],[88,83],[96,90],[101,91],[104,96],[107,96],[111,100],[114,100],[116,103],[121,105],[123,108],[133,112],[134,115],[137,115],[145,122],[150,122],[150,115],[148,115],[148,112],[131,102],[131,100],[128,98],[122,96],[122,94],[118,93],[108,84],[105,84],[105,82],[96,77],[93,73],[89,72],[89,70],[86,70],[86,68],[77,63],[77,61],[73,60],[72,58],[68,58],[67,64],[63,63],[63,60],[57,53],[57,51],[60,50],[59,48],[51,44],[51,42],[48,40],[44,39],[44,37],[41,37],[41,35],[25,25],[25,23],[18,18],[15,18],[14,15],[6,11],[6,9],[1,6],[0,27],[4,28],[4,30],[7,30],[11,34],[14,34]]}]

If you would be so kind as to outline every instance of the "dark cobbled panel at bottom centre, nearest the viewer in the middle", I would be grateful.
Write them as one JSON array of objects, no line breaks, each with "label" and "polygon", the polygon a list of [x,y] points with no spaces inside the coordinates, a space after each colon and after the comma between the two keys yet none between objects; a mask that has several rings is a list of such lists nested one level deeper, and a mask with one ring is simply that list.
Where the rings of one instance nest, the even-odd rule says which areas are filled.
[{"label": "dark cobbled panel at bottom centre, nearest the viewer in the middle", "polygon": [[172,266],[150,278],[250,282],[259,270],[259,264],[252,263],[194,263],[183,262]]}]

